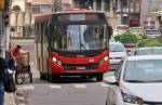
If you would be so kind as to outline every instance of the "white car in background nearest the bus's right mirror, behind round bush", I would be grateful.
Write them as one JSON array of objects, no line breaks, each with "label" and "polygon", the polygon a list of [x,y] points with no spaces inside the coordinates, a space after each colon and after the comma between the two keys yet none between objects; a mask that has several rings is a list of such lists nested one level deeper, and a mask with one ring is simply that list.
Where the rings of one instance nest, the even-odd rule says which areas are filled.
[{"label": "white car in background nearest the bus's right mirror, behind round bush", "polygon": [[116,29],[113,30],[113,36],[122,35],[126,30],[129,30],[127,25],[117,25]]}]

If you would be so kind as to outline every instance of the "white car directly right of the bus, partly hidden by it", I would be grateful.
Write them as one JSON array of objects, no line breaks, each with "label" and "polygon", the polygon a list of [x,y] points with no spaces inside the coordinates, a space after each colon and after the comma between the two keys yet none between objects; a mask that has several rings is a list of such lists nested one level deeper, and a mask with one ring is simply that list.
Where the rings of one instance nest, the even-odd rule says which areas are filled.
[{"label": "white car directly right of the bus, partly hidden by it", "polygon": [[126,56],[126,49],[120,41],[109,42],[110,69],[116,69],[122,57]]}]

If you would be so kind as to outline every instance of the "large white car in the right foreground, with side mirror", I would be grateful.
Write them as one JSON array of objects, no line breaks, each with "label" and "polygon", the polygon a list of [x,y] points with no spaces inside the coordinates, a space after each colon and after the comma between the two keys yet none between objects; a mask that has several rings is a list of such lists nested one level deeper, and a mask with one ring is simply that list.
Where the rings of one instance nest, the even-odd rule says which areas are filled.
[{"label": "large white car in the right foreground, with side mirror", "polygon": [[127,56],[109,83],[106,105],[162,105],[162,55]]}]

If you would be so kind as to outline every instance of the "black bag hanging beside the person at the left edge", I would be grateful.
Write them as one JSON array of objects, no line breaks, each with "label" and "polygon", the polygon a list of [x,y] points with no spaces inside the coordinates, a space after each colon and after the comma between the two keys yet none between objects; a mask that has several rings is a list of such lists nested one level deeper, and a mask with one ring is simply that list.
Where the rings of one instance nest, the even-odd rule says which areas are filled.
[{"label": "black bag hanging beside the person at the left edge", "polygon": [[5,69],[4,71],[4,91],[5,92],[15,92],[16,87],[13,79],[13,71],[11,69]]}]

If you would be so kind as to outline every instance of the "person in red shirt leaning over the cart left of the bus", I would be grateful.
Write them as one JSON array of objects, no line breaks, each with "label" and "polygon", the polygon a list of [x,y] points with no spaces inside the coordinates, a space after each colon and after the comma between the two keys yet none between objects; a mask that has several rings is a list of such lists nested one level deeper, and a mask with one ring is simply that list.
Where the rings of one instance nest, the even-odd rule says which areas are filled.
[{"label": "person in red shirt leaning over the cart left of the bus", "polygon": [[9,52],[9,68],[15,70],[16,57],[21,54],[21,45],[16,45]]}]

